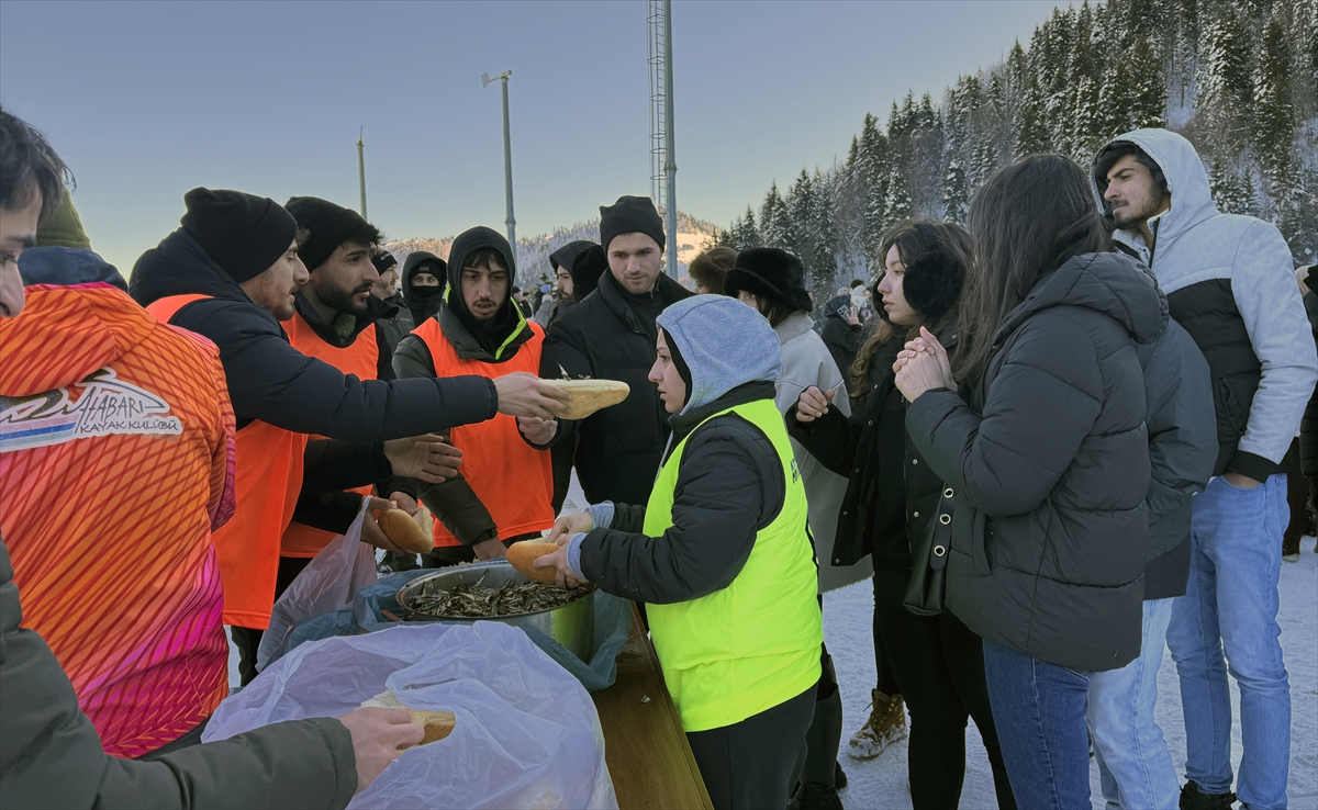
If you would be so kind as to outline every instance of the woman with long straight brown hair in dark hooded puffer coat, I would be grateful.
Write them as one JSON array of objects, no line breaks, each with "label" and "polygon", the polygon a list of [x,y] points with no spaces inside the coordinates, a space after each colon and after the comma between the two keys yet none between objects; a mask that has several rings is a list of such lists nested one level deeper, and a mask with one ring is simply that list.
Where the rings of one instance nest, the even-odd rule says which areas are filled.
[{"label": "woman with long straight brown hair in dark hooded puffer coat", "polygon": [[1085,173],[1061,155],[995,174],[970,236],[954,362],[921,328],[895,382],[954,502],[946,607],[983,639],[1016,802],[1087,807],[1090,677],[1140,652],[1151,462],[1136,344],[1165,331],[1166,298],[1104,252]]}]

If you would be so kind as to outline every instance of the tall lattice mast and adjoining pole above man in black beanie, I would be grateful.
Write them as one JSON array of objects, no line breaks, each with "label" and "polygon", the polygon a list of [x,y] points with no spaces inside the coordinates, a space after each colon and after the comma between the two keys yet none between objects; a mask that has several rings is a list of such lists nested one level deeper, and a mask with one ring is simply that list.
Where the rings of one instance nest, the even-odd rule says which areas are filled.
[{"label": "tall lattice mast and adjoining pole above man in black beanie", "polygon": [[677,278],[677,159],[672,125],[672,0],[648,0],[650,196],[666,215],[667,271]]}]

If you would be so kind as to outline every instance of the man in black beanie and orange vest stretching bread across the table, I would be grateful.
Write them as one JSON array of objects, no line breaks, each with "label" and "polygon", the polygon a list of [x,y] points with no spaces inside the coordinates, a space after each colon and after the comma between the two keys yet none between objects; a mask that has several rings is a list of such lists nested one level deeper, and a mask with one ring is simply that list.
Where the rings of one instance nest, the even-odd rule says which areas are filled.
[{"label": "man in black beanie and orange vest stretching bread across the table", "polygon": [[[293,215],[269,198],[240,191],[194,188],[183,199],[182,227],[137,259],[129,292],[157,320],[203,335],[220,349],[239,428],[237,511],[214,541],[224,576],[224,623],[233,627],[246,682],[256,677],[283,531],[304,472],[316,478],[315,491],[390,474],[443,478],[456,474],[451,449],[407,437],[496,414],[550,418],[565,395],[530,374],[362,379],[303,354],[281,327],[293,319],[295,292],[308,281]],[[322,245],[312,261],[323,263],[347,241],[331,241],[328,250]],[[348,324],[351,336],[356,319],[335,316],[331,323],[335,335]],[[340,441],[310,441],[312,435]],[[443,472],[427,472],[436,469]]]}]

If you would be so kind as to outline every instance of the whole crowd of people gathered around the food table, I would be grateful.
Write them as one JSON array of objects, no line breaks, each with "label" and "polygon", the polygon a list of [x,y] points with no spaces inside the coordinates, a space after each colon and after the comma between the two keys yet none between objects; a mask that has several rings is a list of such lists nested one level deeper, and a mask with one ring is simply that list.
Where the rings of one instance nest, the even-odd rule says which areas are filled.
[{"label": "whole crowd of people gathered around the food table", "polygon": [[[780,249],[705,252],[695,292],[664,275],[639,196],[534,302],[490,228],[399,265],[349,208],[210,188],[125,283],[9,112],[0,163],[4,806],[365,789],[422,739],[406,711],[200,744],[225,627],[245,685],[362,510],[382,570],[547,533],[559,585],[641,603],[718,809],[842,806],[822,593],[865,580],[878,677],[846,751],[908,738],[917,810],[958,805],[969,719],[1000,807],[1089,807],[1090,755],[1110,807],[1286,806],[1277,580],[1306,522],[1288,473],[1318,482],[1318,292],[1276,228],[1215,209],[1184,137],[1023,158],[967,228],[895,224],[822,312]],[[561,419],[561,377],[630,394]],[[390,543],[391,507],[434,551]]]}]

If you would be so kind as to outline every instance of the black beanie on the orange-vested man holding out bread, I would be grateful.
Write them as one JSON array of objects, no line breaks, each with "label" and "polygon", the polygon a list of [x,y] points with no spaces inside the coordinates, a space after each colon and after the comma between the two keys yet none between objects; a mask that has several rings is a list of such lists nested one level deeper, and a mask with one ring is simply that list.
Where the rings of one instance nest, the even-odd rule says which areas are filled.
[{"label": "black beanie on the orange-vested man holding out bread", "polygon": [[268,196],[198,187],[183,204],[183,230],[239,283],[269,270],[298,234],[298,221]]}]

